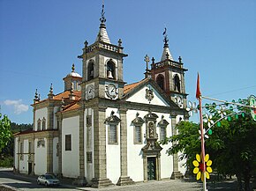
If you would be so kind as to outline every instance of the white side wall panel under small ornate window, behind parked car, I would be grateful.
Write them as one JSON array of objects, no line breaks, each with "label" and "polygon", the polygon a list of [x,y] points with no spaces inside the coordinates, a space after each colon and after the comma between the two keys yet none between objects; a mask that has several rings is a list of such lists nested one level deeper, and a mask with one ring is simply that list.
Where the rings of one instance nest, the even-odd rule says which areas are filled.
[{"label": "white side wall panel under small ornate window, behind parked car", "polygon": [[[40,139],[41,140],[41,139]],[[37,147],[38,138],[34,139],[34,173],[43,174],[47,173],[46,160],[47,160],[47,139],[44,138],[44,147],[40,145]]]}]

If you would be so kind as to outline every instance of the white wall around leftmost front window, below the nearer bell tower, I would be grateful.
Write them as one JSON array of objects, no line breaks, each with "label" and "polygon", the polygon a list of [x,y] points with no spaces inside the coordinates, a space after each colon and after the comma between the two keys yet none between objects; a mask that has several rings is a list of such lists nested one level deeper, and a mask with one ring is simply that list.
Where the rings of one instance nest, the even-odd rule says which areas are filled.
[{"label": "white wall around leftmost front window, below the nearer bell tower", "polygon": [[[117,113],[117,108],[107,108],[106,109],[106,118],[110,116],[111,112],[114,111],[115,115],[120,118]],[[121,175],[120,172],[120,123],[117,126],[117,135],[118,135],[118,144],[109,144],[109,126],[106,124],[106,152],[107,152],[107,177],[114,184],[117,184],[117,181]]]}]

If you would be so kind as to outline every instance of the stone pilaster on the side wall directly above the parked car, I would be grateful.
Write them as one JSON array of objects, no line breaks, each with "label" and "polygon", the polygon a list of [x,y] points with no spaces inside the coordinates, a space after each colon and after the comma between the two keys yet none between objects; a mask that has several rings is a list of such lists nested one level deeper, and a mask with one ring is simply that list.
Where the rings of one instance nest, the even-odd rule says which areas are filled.
[{"label": "stone pilaster on the side wall directly above the parked car", "polygon": [[47,142],[47,155],[46,155],[46,171],[53,173],[53,135],[46,137]]}]

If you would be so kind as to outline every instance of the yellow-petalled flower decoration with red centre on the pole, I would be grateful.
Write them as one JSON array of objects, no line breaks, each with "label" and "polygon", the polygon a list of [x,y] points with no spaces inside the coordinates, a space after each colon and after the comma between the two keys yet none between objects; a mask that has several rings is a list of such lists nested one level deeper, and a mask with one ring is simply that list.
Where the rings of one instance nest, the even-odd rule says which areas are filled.
[{"label": "yellow-petalled flower decoration with red centre on the pole", "polygon": [[[205,169],[206,169],[206,178],[209,179],[210,178],[210,175],[209,173],[212,173],[213,172],[213,169],[211,168],[211,165],[212,165],[212,161],[209,160],[209,155],[207,154],[206,157],[205,157]],[[203,181],[204,179],[204,173],[203,173],[203,164],[201,163],[201,158],[200,158],[200,155],[197,154],[196,155],[196,160],[194,160],[192,162],[192,164],[195,166],[194,170],[193,170],[193,173],[196,173],[197,174],[197,180],[201,180]]]}]

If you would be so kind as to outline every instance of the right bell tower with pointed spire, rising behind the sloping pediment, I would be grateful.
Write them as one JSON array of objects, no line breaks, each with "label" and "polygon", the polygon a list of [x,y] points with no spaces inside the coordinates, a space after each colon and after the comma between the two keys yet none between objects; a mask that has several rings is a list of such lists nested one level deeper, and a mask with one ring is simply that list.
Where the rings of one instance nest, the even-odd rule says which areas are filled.
[{"label": "right bell tower with pointed spire, rising behind the sloping pediment", "polygon": [[186,96],[184,86],[184,63],[182,58],[178,57],[178,62],[174,61],[173,56],[169,51],[169,40],[167,30],[165,28],[163,34],[163,50],[160,62],[154,62],[152,58],[151,76],[154,81],[166,92],[170,99],[177,103],[178,107],[186,107]]}]

